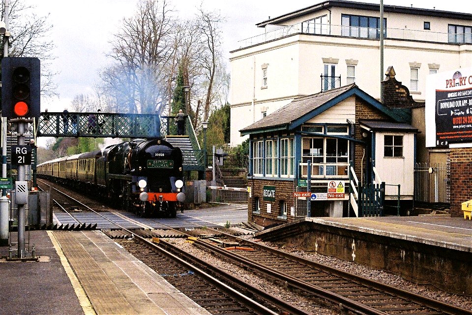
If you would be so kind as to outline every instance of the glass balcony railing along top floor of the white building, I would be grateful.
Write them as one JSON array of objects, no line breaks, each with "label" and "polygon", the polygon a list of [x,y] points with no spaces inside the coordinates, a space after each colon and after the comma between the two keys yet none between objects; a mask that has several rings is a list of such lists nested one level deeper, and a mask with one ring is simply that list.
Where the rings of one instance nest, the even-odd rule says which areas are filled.
[{"label": "glass balcony railing along top floor of the white building", "polygon": [[[264,34],[249,37],[238,41],[239,48],[245,48],[252,45],[262,44],[271,40],[279,39],[293,34],[314,34],[320,36],[343,36],[354,37],[359,39],[373,39],[380,38],[380,30],[377,28],[354,27],[344,25],[329,25],[329,24],[315,24],[313,22],[301,22],[290,26],[284,26],[280,29],[265,32]],[[408,30],[408,29],[394,29],[386,28],[384,31],[385,39],[402,39],[413,41],[427,41],[436,43],[453,42],[455,34],[447,32],[431,32],[427,30]],[[463,35],[463,34],[459,34]],[[470,34],[464,36],[469,38]],[[451,39],[452,38],[452,39]],[[464,40],[463,40],[464,41]],[[467,41],[467,40],[466,40]],[[470,42],[468,42],[470,43]],[[458,42],[459,44],[459,42]]]}]

